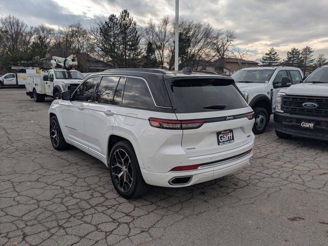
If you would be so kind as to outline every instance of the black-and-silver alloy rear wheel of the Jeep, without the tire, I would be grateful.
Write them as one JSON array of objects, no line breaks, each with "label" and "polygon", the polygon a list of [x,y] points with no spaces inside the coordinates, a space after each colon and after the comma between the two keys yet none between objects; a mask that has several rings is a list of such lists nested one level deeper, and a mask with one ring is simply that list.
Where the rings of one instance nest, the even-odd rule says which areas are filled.
[{"label": "black-and-silver alloy rear wheel of the Jeep, without the tire", "polygon": [[132,187],[133,171],[129,155],[125,150],[118,149],[112,157],[112,174],[117,188],[127,192]]}]

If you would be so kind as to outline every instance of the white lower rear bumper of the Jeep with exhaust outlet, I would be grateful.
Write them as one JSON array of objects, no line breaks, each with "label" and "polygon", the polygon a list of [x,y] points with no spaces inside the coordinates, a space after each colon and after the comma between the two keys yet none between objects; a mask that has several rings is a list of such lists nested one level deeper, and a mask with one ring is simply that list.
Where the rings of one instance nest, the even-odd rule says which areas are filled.
[{"label": "white lower rear bumper of the Jeep with exhaust outlet", "polygon": [[[253,152],[250,154],[243,155],[239,158],[232,158],[231,161],[228,160],[222,163],[220,163],[220,160],[218,160],[216,166],[214,163],[214,165],[211,165],[210,167],[204,167],[193,171],[153,173],[148,172],[145,169],[141,169],[141,173],[146,183],[152,186],[187,187],[195,185],[196,183],[201,183],[222,176],[226,176],[244,167],[247,167],[250,165],[250,158],[252,157],[252,155]],[[190,177],[190,180],[188,181],[188,183],[185,183],[183,185],[172,185],[171,180],[176,177]]]}]

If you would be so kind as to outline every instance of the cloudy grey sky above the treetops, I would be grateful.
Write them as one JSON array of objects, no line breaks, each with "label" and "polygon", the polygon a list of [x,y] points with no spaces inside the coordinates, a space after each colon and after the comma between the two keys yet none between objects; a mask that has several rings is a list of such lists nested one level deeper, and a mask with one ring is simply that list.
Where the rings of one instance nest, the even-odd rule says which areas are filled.
[{"label": "cloudy grey sky above the treetops", "polygon": [[[90,27],[128,9],[138,25],[174,16],[175,0],[1,0],[0,17],[15,15],[28,25],[52,27],[80,22]],[[260,58],[270,47],[281,57],[292,47],[311,46],[328,56],[327,0],[180,0],[180,16],[235,30],[238,46]]]}]

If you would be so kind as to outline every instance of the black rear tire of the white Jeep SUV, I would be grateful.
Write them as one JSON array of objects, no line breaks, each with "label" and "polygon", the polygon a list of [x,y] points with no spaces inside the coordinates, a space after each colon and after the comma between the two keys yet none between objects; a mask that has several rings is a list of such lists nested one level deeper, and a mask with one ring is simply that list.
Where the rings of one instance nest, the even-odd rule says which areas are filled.
[{"label": "black rear tire of the white Jeep SUV", "polygon": [[[129,157],[128,160],[126,157],[122,160],[122,155],[125,154]],[[121,167],[125,170],[120,168],[118,163],[122,163]],[[137,156],[129,141],[119,141],[113,146],[109,156],[109,170],[113,186],[122,197],[127,199],[138,197],[144,195],[148,191],[149,186],[142,177]],[[121,175],[119,176],[117,173],[121,173]],[[123,180],[120,177],[122,177]],[[131,185],[128,181],[131,182]],[[125,183],[128,184],[129,187],[125,186]],[[122,185],[122,187],[120,187],[120,185]]]}]

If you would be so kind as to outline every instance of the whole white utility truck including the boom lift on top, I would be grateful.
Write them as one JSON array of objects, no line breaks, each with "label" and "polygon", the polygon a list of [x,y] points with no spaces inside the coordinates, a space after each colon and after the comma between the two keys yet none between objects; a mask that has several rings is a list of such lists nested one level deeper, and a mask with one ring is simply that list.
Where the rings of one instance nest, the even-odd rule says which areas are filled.
[{"label": "whole white utility truck including the boom lift on top", "polygon": [[84,80],[83,74],[73,70],[77,66],[75,55],[67,58],[53,56],[50,70],[42,70],[37,76],[30,76],[27,79],[26,95],[36,102],[44,101],[45,97],[60,99],[61,92],[73,92]]}]

